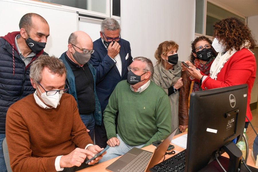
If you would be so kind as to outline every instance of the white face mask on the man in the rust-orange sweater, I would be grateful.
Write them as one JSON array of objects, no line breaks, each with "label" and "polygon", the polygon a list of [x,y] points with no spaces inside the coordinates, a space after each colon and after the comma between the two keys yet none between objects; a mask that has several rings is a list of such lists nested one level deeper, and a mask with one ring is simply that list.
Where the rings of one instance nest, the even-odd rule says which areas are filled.
[{"label": "white face mask on the man in the rust-orange sweater", "polygon": [[[38,86],[38,84],[37,84]],[[40,91],[39,87],[38,90]],[[41,93],[41,91],[40,91]],[[49,105],[51,107],[56,108],[57,105],[59,105],[59,101],[62,97],[62,94],[59,94],[58,92],[54,95],[46,95],[46,92],[41,93],[40,97],[42,98],[42,100],[44,101],[43,103],[45,103],[46,105]]]}]

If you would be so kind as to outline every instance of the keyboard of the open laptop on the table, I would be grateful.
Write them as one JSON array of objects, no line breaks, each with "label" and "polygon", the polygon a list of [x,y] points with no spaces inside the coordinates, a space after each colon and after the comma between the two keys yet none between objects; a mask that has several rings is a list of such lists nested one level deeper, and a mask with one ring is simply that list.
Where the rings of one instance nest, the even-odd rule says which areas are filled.
[{"label": "keyboard of the open laptop on the table", "polygon": [[120,172],[142,172],[146,169],[152,153],[142,152],[126,165]]}]

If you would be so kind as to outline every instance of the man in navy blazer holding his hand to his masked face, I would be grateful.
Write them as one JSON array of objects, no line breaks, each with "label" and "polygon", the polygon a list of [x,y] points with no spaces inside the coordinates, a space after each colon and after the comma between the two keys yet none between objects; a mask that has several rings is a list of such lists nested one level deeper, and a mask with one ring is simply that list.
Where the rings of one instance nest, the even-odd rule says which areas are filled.
[{"label": "man in navy blazer holding his hand to his masked face", "polygon": [[93,42],[94,53],[90,63],[96,69],[96,92],[99,98],[102,121],[95,125],[95,144],[107,145],[107,134],[103,124],[103,111],[118,82],[127,79],[127,67],[132,62],[130,43],[120,36],[120,25],[113,18],[101,22],[100,37]]}]

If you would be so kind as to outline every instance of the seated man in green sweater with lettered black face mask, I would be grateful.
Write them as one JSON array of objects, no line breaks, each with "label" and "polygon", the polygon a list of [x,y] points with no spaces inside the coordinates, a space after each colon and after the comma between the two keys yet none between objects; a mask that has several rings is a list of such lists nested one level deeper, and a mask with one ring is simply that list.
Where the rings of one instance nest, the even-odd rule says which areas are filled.
[{"label": "seated man in green sweater with lettered black face mask", "polygon": [[104,110],[103,121],[110,148],[99,162],[124,155],[133,147],[141,148],[163,140],[171,133],[169,97],[150,81],[154,71],[152,62],[145,57],[136,57],[128,70],[127,81],[118,83]]}]

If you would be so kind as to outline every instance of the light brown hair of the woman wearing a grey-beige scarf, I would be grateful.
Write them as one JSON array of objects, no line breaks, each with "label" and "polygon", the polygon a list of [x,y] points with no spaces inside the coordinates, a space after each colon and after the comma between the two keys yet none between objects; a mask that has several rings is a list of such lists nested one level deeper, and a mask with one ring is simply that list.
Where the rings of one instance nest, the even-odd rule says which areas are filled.
[{"label": "light brown hair of the woman wearing a grey-beige scarf", "polygon": [[158,60],[157,64],[159,64],[162,60],[161,58],[161,54],[163,54],[164,56],[167,55],[167,53],[169,51],[171,51],[172,49],[177,49],[179,48],[179,45],[177,45],[177,43],[175,43],[175,41],[164,41],[161,42],[157,48],[157,50],[155,51],[155,58]]}]

